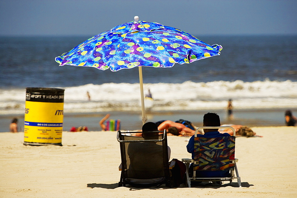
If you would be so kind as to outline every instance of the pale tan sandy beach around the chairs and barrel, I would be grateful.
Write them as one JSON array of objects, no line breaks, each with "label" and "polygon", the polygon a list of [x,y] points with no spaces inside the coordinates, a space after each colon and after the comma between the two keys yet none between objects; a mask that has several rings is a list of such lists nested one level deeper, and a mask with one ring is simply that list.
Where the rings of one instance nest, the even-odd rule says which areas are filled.
[{"label": "pale tan sandy beach around the chairs and barrel", "polygon": [[[23,132],[0,133],[0,197],[297,197],[297,127],[253,127],[236,138],[242,188],[118,187],[116,132],[63,132],[63,146],[24,146]],[[190,158],[189,137],[168,136],[171,159]]]}]

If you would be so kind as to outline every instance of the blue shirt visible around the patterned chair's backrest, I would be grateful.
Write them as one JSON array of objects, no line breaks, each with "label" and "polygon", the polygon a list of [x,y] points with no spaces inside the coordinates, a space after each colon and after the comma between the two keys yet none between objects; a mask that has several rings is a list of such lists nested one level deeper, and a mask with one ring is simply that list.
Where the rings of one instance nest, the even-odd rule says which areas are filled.
[{"label": "blue shirt visible around the patterned chair's backrest", "polygon": [[[187,151],[189,153],[192,153],[192,159],[194,159],[194,136],[193,135],[189,143],[187,145]],[[219,137],[225,137],[225,136],[230,136],[229,133],[220,133],[218,131],[210,131],[205,133],[204,135],[202,134],[197,134],[197,137],[199,138],[219,138]],[[191,166],[190,166],[191,167]],[[193,171],[193,167],[190,168],[191,171]],[[228,171],[196,171],[196,177],[226,177],[229,174]]]}]

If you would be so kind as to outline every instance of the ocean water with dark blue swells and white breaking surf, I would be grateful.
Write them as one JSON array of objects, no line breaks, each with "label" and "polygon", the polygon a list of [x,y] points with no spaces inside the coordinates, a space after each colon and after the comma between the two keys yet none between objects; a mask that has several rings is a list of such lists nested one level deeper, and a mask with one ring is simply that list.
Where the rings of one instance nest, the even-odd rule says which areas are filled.
[{"label": "ocean water with dark blue swells and white breaking surf", "polygon": [[[92,36],[0,37],[0,131],[7,131],[1,129],[7,125],[4,119],[23,116],[26,87],[65,89],[64,123],[72,117],[69,125],[72,115],[84,115],[88,122],[85,115],[90,113],[141,114],[138,68],[112,72],[55,62]],[[221,55],[172,68],[142,67],[144,92],[150,89],[154,98],[150,114],[225,112],[229,98],[238,116],[247,110],[257,115],[281,111],[283,123],[284,109],[297,110],[297,36],[194,36],[222,45]],[[269,111],[266,121],[271,116],[279,120]],[[136,122],[138,116],[132,117]]]}]

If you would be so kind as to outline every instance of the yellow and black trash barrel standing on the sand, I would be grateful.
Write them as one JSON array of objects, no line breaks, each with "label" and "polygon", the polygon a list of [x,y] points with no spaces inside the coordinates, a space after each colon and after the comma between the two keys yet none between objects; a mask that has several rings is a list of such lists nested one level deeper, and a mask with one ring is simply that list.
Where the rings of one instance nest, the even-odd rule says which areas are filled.
[{"label": "yellow and black trash barrel standing on the sand", "polygon": [[64,89],[27,87],[24,145],[62,146]]}]

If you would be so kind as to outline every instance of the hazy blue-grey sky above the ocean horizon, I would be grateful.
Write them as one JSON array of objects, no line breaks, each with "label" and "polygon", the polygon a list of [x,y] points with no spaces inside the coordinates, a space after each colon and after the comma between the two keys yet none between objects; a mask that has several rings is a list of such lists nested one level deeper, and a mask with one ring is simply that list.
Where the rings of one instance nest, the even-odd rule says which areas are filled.
[{"label": "hazy blue-grey sky above the ocean horizon", "polygon": [[0,0],[0,35],[90,35],[134,20],[193,35],[297,34],[297,0]]}]

